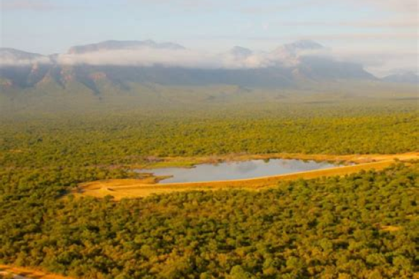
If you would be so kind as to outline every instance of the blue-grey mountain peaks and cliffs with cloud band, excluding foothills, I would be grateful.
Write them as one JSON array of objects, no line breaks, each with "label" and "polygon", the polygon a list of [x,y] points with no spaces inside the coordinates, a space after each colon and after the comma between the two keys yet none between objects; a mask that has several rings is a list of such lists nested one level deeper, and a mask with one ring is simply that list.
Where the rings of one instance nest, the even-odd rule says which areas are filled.
[{"label": "blue-grey mountain peaks and cliffs with cloud band, excluding foothills", "polygon": [[[103,81],[128,89],[131,83],[145,82],[167,85],[292,87],[302,82],[378,80],[361,65],[339,61],[325,54],[326,52],[326,47],[309,40],[286,44],[263,54],[255,54],[244,47],[234,47],[224,54],[207,57],[207,60],[218,59],[219,64],[211,65],[211,61],[188,61],[185,56],[190,52],[182,45],[155,43],[152,40],[108,40],[74,46],[66,54],[52,55],[1,48],[0,84],[4,90],[10,87],[40,86],[50,82],[66,88],[69,83],[78,82],[99,93],[101,86],[98,83]],[[161,58],[153,61],[147,54],[174,58],[172,61]],[[127,63],[119,62],[119,56]],[[180,56],[178,60],[176,56]],[[99,60],[89,61],[89,57]],[[148,61],[145,62],[144,59]],[[418,76],[413,73],[393,75],[383,78],[383,81],[417,83]]]}]

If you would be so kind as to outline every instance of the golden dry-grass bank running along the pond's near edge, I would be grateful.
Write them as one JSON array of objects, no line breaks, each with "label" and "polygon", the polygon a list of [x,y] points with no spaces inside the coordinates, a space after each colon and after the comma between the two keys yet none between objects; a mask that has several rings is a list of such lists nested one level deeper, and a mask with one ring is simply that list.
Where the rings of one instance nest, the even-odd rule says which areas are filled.
[{"label": "golden dry-grass bank running along the pond's near edge", "polygon": [[[288,157],[297,158],[295,154],[288,154]],[[266,159],[265,155],[238,156],[237,160]],[[270,157],[279,158],[279,157]],[[165,194],[172,192],[182,192],[191,190],[218,190],[226,188],[260,190],[277,185],[279,181],[295,179],[315,179],[321,176],[342,176],[353,174],[360,170],[384,169],[395,163],[395,160],[415,160],[419,158],[419,153],[404,153],[397,155],[349,155],[349,156],[327,156],[327,155],[307,155],[300,156],[300,159],[307,160],[335,160],[345,162],[356,162],[358,165],[344,167],[333,167],[330,169],[320,169],[309,172],[297,172],[293,174],[281,174],[277,176],[265,176],[255,179],[237,179],[228,181],[207,181],[191,183],[166,183],[156,184],[152,178],[147,179],[115,179],[106,181],[94,181],[91,183],[80,184],[76,195],[91,197],[105,197],[112,195],[115,200],[122,198],[147,197],[153,194]],[[372,162],[372,163],[367,163]]]}]

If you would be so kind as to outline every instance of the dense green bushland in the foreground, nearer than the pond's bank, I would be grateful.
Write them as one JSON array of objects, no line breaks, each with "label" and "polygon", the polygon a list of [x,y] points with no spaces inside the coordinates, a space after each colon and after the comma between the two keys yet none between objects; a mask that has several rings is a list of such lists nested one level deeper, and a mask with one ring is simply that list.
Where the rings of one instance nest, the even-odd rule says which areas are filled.
[{"label": "dense green bushland in the foreground, nearer than the pond's bank", "polygon": [[78,278],[413,278],[418,170],[119,203],[60,198],[94,171],[3,172],[0,259]]}]

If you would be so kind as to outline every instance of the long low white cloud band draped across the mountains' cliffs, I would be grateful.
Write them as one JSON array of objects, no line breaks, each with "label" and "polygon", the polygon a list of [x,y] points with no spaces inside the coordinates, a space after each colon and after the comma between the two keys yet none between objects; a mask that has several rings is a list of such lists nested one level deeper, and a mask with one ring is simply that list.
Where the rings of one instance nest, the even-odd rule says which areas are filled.
[{"label": "long low white cloud band draped across the mountains' cliffs", "polygon": [[265,68],[298,63],[302,56],[331,56],[326,48],[304,49],[292,45],[272,52],[211,53],[198,50],[172,50],[139,47],[124,50],[101,50],[84,54],[60,54],[58,63],[66,65],[167,66],[182,68]]}]

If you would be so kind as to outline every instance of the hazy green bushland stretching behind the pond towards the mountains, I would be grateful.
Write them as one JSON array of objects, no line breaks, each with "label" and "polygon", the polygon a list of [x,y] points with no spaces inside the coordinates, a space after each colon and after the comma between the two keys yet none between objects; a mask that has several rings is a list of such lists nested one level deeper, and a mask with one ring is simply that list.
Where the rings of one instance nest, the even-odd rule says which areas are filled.
[{"label": "hazy green bushland stretching behind the pond towards the mountains", "polygon": [[0,121],[0,165],[143,163],[147,156],[419,150],[416,107],[270,107],[113,112]]}]

